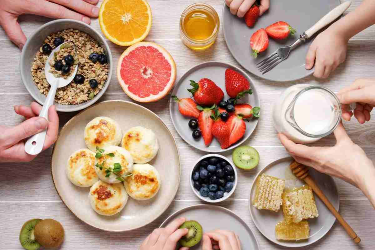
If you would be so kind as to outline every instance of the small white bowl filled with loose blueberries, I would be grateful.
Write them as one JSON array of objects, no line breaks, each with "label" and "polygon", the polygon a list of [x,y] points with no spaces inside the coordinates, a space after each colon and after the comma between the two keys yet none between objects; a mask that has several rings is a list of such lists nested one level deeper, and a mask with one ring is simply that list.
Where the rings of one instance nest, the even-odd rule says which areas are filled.
[{"label": "small white bowl filled with loose blueberries", "polygon": [[[230,165],[232,167],[232,169],[233,169],[233,173],[230,174],[230,175],[234,175],[234,181],[226,181],[226,183],[233,182],[233,187],[231,188],[231,190],[230,191],[224,191],[223,192],[223,196],[221,198],[216,198],[216,199],[211,199],[209,196],[202,196],[199,193],[199,191],[197,189],[195,189],[195,187],[194,187],[194,182],[195,181],[193,180],[193,174],[195,174],[195,172],[199,172],[199,170],[201,168],[201,166],[200,166],[201,162],[204,162],[205,160],[207,160],[207,162],[208,162],[210,159],[213,159],[213,158],[217,158],[218,159],[217,163],[214,163],[216,165],[220,164],[220,162],[227,162],[228,165]],[[207,168],[208,168],[208,166],[205,167],[205,169],[207,169]],[[213,171],[213,172],[216,172],[216,171]],[[215,174],[213,174],[213,175],[215,175]],[[226,180],[226,175],[224,177],[222,177],[222,178],[224,178],[224,180]],[[210,202],[210,203],[217,203],[217,202],[225,201],[226,199],[229,198],[229,196],[231,196],[233,194],[233,192],[234,192],[234,190],[236,189],[236,186],[237,186],[238,176],[237,176],[236,166],[234,166],[234,164],[228,158],[226,158],[225,156],[222,156],[220,154],[206,154],[205,156],[202,156],[201,158],[199,158],[195,162],[193,168],[190,171],[189,182],[190,182],[190,187],[193,190],[193,192],[195,193],[195,195],[198,196],[198,198],[201,199],[202,201]],[[208,184],[206,184],[206,185],[208,187]],[[220,185],[217,184],[217,186],[218,186],[217,191],[219,191],[220,190]]]}]

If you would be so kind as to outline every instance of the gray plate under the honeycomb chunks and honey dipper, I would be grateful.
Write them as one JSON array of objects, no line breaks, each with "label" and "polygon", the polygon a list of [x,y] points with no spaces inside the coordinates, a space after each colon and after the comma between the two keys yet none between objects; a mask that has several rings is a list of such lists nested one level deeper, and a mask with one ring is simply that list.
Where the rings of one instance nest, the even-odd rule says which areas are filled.
[{"label": "gray plate under the honeycomb chunks and honey dipper", "polygon": [[[260,171],[254,180],[257,180],[258,176],[261,174],[267,174],[284,179],[285,169],[289,168],[289,165],[292,161],[292,157],[276,160],[275,162],[266,166],[266,168],[264,168],[262,171]],[[311,177],[317,182],[317,185],[320,187],[323,193],[327,196],[328,200],[336,208],[336,210],[339,210],[340,198],[339,193],[337,191],[337,186],[333,178],[329,175],[317,172],[312,168],[310,168],[309,173]],[[333,214],[328,210],[326,205],[324,205],[324,203],[314,193],[319,216],[317,218],[308,220],[310,226],[310,237],[308,238],[308,240],[279,241],[276,239],[275,226],[276,223],[281,222],[284,219],[282,208],[280,208],[279,212],[277,213],[269,210],[258,210],[257,208],[255,208],[252,205],[252,200],[254,197],[256,186],[255,183],[256,182],[254,181],[251,187],[249,199],[251,217],[254,220],[255,226],[257,226],[257,228],[264,235],[264,237],[266,237],[270,241],[285,247],[308,246],[314,243],[315,241],[320,240],[320,238],[326,235],[327,232],[332,228],[333,223],[335,223],[335,216],[333,216]],[[298,180],[296,185],[303,186],[306,185],[306,183],[301,180]]]}]

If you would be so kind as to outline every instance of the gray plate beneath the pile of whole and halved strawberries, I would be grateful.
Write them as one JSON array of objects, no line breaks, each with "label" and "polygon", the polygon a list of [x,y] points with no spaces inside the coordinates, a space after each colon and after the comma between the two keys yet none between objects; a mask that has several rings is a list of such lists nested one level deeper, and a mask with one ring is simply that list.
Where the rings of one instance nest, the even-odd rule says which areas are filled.
[{"label": "gray plate beneath the pile of whole and halved strawberries", "polygon": [[[209,78],[222,89],[222,91],[224,92],[224,100],[227,100],[229,98],[228,94],[226,94],[225,91],[225,70],[227,68],[232,68],[240,72],[243,76],[245,76],[246,79],[248,79],[248,81],[250,82],[250,87],[253,90],[253,94],[245,95],[241,100],[239,100],[239,103],[249,103],[253,107],[260,107],[260,99],[257,90],[255,89],[255,85],[253,84],[253,81],[249,77],[249,75],[246,74],[243,70],[239,69],[238,67],[216,61],[209,61],[206,63],[198,64],[197,66],[192,67],[189,71],[184,73],[184,75],[175,85],[172,95],[176,95],[178,96],[178,98],[191,97],[190,92],[187,91],[188,88],[191,88],[189,80],[194,80],[198,82],[201,78]],[[173,102],[171,100],[171,103],[169,104],[169,112],[171,114],[172,123],[175,129],[177,130],[178,134],[182,137],[182,139],[184,139],[188,144],[192,145],[193,147],[199,150],[211,153],[220,153],[239,146],[240,144],[242,144],[242,142],[246,141],[246,139],[249,138],[249,136],[252,134],[252,132],[258,124],[258,119],[256,118],[253,118],[249,122],[246,122],[245,135],[242,139],[240,139],[240,141],[233,144],[229,148],[222,149],[220,147],[219,142],[216,141],[216,139],[213,139],[211,144],[208,147],[206,147],[204,145],[203,138],[201,138],[198,141],[193,139],[192,130],[189,128],[188,125],[188,122],[191,119],[191,117],[185,117],[180,114],[180,112],[178,111],[178,103]]]}]

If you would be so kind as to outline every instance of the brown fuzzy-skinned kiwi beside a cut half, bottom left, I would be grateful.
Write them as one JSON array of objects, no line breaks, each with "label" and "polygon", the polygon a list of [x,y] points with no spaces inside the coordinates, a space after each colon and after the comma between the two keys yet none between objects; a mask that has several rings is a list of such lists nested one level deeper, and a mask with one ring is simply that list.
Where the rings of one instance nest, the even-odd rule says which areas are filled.
[{"label": "brown fuzzy-skinned kiwi beside a cut half, bottom left", "polygon": [[39,222],[34,229],[35,240],[45,248],[58,247],[63,243],[65,231],[63,226],[53,219]]}]

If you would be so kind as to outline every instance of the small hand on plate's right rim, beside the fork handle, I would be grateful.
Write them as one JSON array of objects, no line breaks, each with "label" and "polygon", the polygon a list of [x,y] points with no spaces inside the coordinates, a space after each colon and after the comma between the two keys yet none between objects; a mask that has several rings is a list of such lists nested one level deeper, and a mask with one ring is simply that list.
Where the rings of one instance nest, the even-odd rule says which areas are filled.
[{"label": "small hand on plate's right rim, beside the fork handle", "polygon": [[311,69],[315,61],[314,76],[327,78],[340,63],[345,61],[348,40],[331,27],[318,34],[306,54],[306,69]]}]

